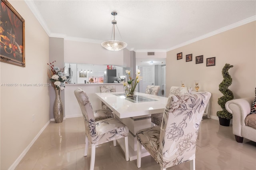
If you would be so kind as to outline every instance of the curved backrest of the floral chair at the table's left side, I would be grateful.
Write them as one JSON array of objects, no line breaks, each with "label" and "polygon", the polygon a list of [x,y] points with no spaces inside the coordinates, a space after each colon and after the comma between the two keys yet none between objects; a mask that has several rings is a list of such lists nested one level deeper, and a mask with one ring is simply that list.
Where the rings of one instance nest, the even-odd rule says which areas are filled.
[{"label": "curved backrest of the floral chair at the table's left side", "polygon": [[91,143],[94,143],[96,142],[95,140],[97,140],[98,135],[96,132],[95,118],[92,110],[92,105],[89,101],[87,94],[83,89],[77,88],[74,91],[74,94],[76,96],[76,99],[82,111],[82,115],[84,117],[86,136]]}]

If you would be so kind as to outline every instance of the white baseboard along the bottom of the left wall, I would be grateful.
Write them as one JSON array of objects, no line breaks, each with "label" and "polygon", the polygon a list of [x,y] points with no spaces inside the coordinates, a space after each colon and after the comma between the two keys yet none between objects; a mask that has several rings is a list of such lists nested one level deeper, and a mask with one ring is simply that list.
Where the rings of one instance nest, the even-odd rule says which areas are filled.
[{"label": "white baseboard along the bottom of the left wall", "polygon": [[40,134],[44,131],[44,129],[49,125],[50,121],[44,125],[44,127],[38,132],[38,134],[34,137],[34,139],[30,142],[30,144],[23,150],[23,152],[20,154],[20,156],[13,162],[13,164],[8,168],[8,170],[14,170],[16,166],[20,163],[22,158],[26,155],[28,150],[31,148],[31,146],[36,142],[37,138],[40,136]]}]

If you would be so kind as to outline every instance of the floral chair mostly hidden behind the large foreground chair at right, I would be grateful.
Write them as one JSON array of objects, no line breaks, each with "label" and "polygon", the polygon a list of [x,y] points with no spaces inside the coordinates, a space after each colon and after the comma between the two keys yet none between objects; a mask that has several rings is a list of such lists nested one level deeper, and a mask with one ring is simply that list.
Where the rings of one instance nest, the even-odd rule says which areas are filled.
[{"label": "floral chair mostly hidden behind the large foreground chair at right", "polygon": [[[170,95],[185,95],[190,94],[192,91],[192,87],[176,87],[172,86],[170,88]],[[160,126],[163,119],[163,113],[156,113],[151,115],[151,122],[154,125]]]}]

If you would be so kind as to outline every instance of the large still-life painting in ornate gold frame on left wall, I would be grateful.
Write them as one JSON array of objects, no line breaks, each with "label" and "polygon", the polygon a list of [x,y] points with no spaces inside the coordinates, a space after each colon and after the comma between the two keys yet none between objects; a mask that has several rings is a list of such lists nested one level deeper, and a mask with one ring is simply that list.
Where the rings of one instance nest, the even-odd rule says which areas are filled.
[{"label": "large still-life painting in ornate gold frame on left wall", "polygon": [[0,6],[1,61],[25,67],[25,20],[7,0]]}]

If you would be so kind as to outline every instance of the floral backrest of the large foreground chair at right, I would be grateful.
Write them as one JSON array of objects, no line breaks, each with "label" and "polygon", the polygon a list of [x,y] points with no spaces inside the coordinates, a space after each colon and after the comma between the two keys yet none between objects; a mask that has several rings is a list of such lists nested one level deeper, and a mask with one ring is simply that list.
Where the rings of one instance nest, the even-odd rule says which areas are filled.
[{"label": "floral backrest of the large foreground chair at right", "polygon": [[193,160],[196,139],[211,93],[171,95],[164,110],[158,163],[168,168]]}]

